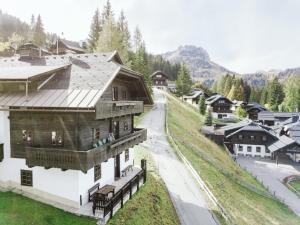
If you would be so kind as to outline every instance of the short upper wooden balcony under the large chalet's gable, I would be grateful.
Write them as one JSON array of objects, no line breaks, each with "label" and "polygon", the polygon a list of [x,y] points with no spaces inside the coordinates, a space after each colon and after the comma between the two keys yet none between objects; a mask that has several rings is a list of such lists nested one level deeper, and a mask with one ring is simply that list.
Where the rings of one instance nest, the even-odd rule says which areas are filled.
[{"label": "short upper wooden balcony under the large chalet's gable", "polygon": [[142,101],[102,101],[96,106],[96,119],[105,119],[144,112]]}]

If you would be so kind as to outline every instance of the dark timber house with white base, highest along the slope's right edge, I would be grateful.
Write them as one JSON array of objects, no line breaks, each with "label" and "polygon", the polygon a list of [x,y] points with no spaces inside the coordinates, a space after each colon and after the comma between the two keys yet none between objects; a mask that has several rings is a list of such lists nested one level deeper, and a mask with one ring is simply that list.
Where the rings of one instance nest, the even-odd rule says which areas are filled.
[{"label": "dark timber house with white base, highest along the slope's right edge", "polygon": [[205,104],[206,110],[210,110],[214,118],[223,119],[234,117],[231,110],[233,102],[220,94],[210,96],[206,99]]}]

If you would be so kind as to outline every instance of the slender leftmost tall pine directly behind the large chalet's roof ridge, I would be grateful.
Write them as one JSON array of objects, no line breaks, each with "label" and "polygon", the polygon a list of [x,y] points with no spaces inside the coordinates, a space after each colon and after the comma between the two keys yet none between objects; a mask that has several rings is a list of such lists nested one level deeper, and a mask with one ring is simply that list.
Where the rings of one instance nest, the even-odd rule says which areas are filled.
[{"label": "slender leftmost tall pine directly behind the large chalet's roof ridge", "polygon": [[97,44],[101,32],[101,22],[100,22],[99,9],[97,8],[93,16],[89,39],[88,39],[88,49],[90,52],[94,52],[97,49]]}]

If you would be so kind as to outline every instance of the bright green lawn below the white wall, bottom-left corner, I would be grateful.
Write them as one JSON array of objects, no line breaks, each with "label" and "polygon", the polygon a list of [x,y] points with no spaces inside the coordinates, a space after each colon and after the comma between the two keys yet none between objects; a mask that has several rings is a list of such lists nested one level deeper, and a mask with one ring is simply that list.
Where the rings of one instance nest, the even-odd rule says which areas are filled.
[{"label": "bright green lawn below the white wall, bottom-left corner", "polygon": [[0,192],[0,225],[95,225],[79,217],[12,192]]}]

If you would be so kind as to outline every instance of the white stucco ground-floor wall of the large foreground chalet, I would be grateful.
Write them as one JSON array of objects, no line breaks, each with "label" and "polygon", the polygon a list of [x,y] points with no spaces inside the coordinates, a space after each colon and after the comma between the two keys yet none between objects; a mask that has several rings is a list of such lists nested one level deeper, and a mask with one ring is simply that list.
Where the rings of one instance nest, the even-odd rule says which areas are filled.
[{"label": "white stucco ground-floor wall of the large foreground chalet", "polygon": [[[62,171],[61,169],[44,167],[28,168],[25,159],[10,157],[10,126],[9,112],[0,111],[0,143],[4,143],[4,159],[0,162],[0,185],[24,191],[31,195],[59,202],[71,207],[79,207],[80,195],[83,204],[87,202],[88,189],[97,182],[100,186],[114,182],[114,159],[101,164],[102,177],[94,182],[94,168],[86,174],[77,170]],[[21,135],[21,134],[20,134]],[[125,163],[125,153],[120,156],[120,167],[123,170],[127,165],[133,164],[134,153],[130,150],[129,161]],[[31,170],[33,186],[21,186],[21,170]]]}]

